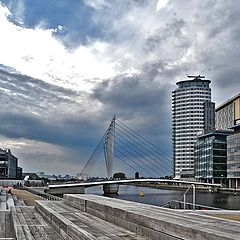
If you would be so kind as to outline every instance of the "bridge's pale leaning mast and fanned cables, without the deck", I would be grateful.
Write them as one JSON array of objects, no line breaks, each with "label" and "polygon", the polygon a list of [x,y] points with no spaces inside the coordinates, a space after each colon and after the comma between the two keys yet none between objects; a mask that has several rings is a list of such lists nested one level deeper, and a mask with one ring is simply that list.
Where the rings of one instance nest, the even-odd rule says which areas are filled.
[{"label": "bridge's pale leaning mast and fanned cables, without the deck", "polygon": [[112,178],[114,165],[119,162],[142,177],[172,175],[172,157],[116,117],[80,173],[83,178],[89,176],[101,153],[104,153],[108,179]]}]

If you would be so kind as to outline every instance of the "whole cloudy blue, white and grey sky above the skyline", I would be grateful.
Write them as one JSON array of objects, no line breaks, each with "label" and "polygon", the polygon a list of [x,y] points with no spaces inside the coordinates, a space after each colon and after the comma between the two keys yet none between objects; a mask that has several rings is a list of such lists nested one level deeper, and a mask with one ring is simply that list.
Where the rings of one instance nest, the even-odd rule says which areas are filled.
[{"label": "whole cloudy blue, white and grey sky above the skyline", "polygon": [[76,175],[115,114],[171,154],[177,81],[206,76],[216,105],[239,93],[239,15],[232,0],[0,0],[0,148],[24,172]]}]

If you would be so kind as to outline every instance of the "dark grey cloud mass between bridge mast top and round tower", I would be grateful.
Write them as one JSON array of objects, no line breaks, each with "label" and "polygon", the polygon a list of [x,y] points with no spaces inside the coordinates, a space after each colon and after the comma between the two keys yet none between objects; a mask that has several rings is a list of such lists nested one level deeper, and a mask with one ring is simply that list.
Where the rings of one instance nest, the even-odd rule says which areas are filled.
[{"label": "dark grey cloud mass between bridge mast top and round tower", "polygon": [[[150,64],[144,73],[134,76],[121,75],[104,81],[94,88],[92,98],[98,99],[103,112],[116,114],[161,149],[167,149],[171,136],[171,84],[159,81],[158,70],[163,66]],[[169,149],[168,149],[169,150]]]}]

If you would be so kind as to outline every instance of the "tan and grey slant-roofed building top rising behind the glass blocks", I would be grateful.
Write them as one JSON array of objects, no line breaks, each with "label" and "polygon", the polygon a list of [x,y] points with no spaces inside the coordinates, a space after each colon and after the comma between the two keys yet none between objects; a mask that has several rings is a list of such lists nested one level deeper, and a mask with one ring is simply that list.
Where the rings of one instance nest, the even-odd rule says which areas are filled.
[{"label": "tan and grey slant-roofed building top rising behind the glass blocks", "polygon": [[240,121],[240,93],[216,108],[216,129],[228,130]]}]

